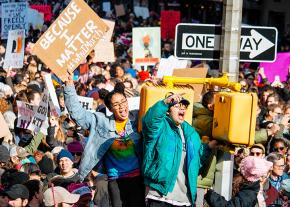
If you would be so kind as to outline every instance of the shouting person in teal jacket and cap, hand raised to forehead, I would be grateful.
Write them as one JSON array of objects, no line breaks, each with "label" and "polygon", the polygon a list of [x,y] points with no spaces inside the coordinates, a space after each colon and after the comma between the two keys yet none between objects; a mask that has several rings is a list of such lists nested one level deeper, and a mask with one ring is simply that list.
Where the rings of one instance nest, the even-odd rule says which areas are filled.
[{"label": "shouting person in teal jacket and cap, hand raised to forehead", "polygon": [[179,94],[158,101],[142,120],[144,183],[149,207],[194,205],[199,168],[216,141],[201,144],[185,119],[189,101]]}]

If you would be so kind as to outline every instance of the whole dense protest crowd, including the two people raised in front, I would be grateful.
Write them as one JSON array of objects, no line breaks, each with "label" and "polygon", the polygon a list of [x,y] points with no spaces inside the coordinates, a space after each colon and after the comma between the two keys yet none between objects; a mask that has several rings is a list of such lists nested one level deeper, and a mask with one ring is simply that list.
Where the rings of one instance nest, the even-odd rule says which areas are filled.
[{"label": "whole dense protest crowd, including the two people raised in front", "polygon": [[[255,144],[235,148],[227,201],[213,190],[224,144],[212,136],[221,87],[204,87],[195,103],[169,94],[143,117],[138,108],[129,110],[128,100],[140,97],[142,85],[162,81],[159,63],[139,67],[132,55],[133,28],[159,27],[160,14],[117,16],[89,2],[100,17],[115,22],[109,40],[115,60],[96,61],[100,53],[92,50],[61,80],[33,53],[68,2],[48,4],[52,18],[30,26],[22,68],[4,67],[8,44],[0,41],[0,207],[290,206],[290,69],[286,80],[270,82],[259,63],[240,63],[242,91],[258,96]],[[288,52],[288,44],[280,50]],[[173,54],[174,39],[162,39],[160,57]],[[186,61],[186,68],[205,67],[207,77],[218,78],[215,66]],[[189,106],[192,123],[184,121]]]}]

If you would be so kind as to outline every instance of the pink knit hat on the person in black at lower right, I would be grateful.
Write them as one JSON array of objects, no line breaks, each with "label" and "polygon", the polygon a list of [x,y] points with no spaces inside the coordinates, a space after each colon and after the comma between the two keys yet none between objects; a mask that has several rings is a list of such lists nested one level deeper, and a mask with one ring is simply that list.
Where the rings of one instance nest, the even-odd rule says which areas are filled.
[{"label": "pink knit hat on the person in black at lower right", "polygon": [[240,164],[242,175],[251,182],[258,181],[262,176],[267,176],[272,167],[272,162],[254,156],[245,157]]}]

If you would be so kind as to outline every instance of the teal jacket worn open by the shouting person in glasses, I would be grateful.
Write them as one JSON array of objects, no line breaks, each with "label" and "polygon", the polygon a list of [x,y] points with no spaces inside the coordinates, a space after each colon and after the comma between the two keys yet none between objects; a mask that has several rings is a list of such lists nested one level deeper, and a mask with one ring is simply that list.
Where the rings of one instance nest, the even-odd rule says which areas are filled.
[{"label": "teal jacket worn open by the shouting person in glasses", "polygon": [[[144,182],[162,195],[174,188],[182,153],[179,129],[167,116],[168,109],[163,100],[158,101],[142,120]],[[186,142],[187,187],[191,200],[195,201],[199,168],[207,161],[211,150],[207,144],[201,144],[198,133],[186,121],[181,128]]]}]

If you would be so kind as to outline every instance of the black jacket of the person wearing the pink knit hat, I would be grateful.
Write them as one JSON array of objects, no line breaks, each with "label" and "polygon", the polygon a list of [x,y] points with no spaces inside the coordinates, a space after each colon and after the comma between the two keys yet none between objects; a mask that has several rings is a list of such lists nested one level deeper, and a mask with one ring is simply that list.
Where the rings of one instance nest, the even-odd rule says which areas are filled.
[{"label": "black jacket of the person wearing the pink knit hat", "polygon": [[205,200],[210,207],[255,207],[257,204],[257,194],[260,190],[260,182],[244,184],[240,191],[231,200],[225,198],[213,190],[209,190],[205,195]]}]

